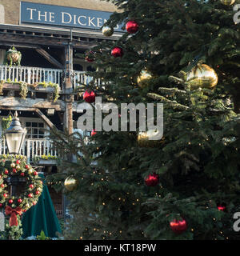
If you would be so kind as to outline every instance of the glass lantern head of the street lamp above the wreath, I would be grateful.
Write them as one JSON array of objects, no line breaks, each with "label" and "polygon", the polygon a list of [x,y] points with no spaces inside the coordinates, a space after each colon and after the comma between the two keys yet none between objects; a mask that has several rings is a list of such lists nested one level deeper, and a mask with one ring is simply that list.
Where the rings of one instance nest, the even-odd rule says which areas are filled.
[{"label": "glass lantern head of the street lamp above the wreath", "polygon": [[26,128],[22,128],[18,113],[15,111],[10,127],[4,133],[9,154],[20,154],[26,137]]}]

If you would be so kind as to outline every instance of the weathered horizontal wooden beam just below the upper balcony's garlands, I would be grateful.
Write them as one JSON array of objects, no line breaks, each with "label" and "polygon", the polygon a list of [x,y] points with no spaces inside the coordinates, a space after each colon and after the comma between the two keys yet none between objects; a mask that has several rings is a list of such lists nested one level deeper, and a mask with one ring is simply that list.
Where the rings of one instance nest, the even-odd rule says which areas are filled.
[{"label": "weathered horizontal wooden beam just below the upper balcony's garlands", "polygon": [[15,98],[0,96],[0,109],[54,109],[55,111],[65,111],[66,102],[58,99],[57,102],[49,102],[44,98]]}]

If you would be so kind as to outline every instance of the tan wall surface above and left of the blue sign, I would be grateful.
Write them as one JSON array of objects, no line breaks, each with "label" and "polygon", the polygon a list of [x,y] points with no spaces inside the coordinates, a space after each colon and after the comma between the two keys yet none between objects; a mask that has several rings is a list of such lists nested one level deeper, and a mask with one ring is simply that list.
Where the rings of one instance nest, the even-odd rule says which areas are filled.
[{"label": "tan wall surface above and left of the blue sign", "polygon": [[[21,0],[0,0],[0,5],[5,9],[5,23],[18,25],[19,8]],[[114,12],[116,7],[109,2],[100,0],[25,0],[26,2],[38,2],[57,6],[70,6],[90,10],[106,10]],[[2,13],[0,13],[1,16]]]}]

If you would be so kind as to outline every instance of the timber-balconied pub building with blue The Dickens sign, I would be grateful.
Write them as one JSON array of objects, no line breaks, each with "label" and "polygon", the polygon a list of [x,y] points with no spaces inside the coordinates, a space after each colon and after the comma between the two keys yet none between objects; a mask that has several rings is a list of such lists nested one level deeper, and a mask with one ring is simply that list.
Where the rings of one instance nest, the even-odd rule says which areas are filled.
[{"label": "timber-balconied pub building with blue The Dickens sign", "polygon": [[[70,133],[77,129],[74,89],[92,79],[86,75],[92,67],[82,54],[102,40],[117,40],[118,32],[106,38],[101,31],[114,11],[114,5],[99,0],[0,0],[0,134],[17,110],[27,129],[22,154],[46,175],[57,171],[58,158],[46,136],[54,126]],[[13,49],[21,53],[20,66],[6,59]],[[0,150],[7,154],[2,137]],[[49,189],[63,218],[64,197]]]}]

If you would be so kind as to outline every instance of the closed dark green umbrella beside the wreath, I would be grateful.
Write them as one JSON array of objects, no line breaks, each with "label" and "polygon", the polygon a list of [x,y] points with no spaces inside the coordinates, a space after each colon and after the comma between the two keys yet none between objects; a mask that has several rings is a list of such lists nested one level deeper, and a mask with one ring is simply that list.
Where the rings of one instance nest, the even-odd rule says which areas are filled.
[{"label": "closed dark green umbrella beside the wreath", "polygon": [[42,178],[42,194],[38,198],[38,203],[27,210],[22,216],[22,238],[37,236],[43,230],[46,237],[57,238],[57,232],[61,234],[61,227],[57,214],[54,210],[49,190],[44,181],[44,174],[39,174]]}]

